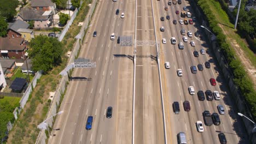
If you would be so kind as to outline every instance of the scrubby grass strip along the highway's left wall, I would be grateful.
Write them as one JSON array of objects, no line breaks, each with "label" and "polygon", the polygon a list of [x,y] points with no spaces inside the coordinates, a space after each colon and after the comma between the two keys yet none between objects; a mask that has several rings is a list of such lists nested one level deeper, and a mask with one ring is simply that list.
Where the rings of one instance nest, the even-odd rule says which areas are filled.
[{"label": "scrubby grass strip along the highway's left wall", "polygon": [[[91,2],[91,0],[84,1],[77,17],[75,17],[73,24],[62,40],[62,43],[65,45],[65,47],[63,47],[65,55],[67,51],[72,51],[73,49],[75,43],[74,37],[79,33],[81,28],[81,26],[78,26],[78,23],[84,21],[90,8],[88,4]],[[56,91],[56,87],[61,79],[59,73],[66,67],[68,57],[65,55],[62,57],[63,62],[59,67],[54,68],[49,74],[43,75],[40,80],[38,80],[37,86],[33,89],[18,121],[15,121],[13,129],[10,131],[7,143],[36,142],[40,131],[37,129],[37,125],[44,121],[50,106],[51,101],[48,100],[49,92]]]}]

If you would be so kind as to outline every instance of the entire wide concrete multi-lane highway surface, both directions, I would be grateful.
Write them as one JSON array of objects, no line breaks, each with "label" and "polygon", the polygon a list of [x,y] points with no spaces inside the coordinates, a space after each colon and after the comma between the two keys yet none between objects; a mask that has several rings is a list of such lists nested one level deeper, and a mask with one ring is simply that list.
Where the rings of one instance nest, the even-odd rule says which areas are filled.
[{"label": "entire wide concrete multi-lane highway surface, both directions", "polygon": [[[152,4],[153,2],[153,4]],[[137,4],[136,4],[137,3]],[[152,10],[154,8],[154,11]],[[225,84],[219,75],[218,67],[214,61],[206,40],[201,36],[194,36],[200,25],[174,25],[173,20],[184,18],[175,14],[189,6],[188,1],[182,4],[168,5],[167,1],[133,0],[100,1],[92,26],[84,40],[79,57],[91,59],[96,62],[96,68],[74,69],[69,82],[65,98],[60,110],[64,111],[57,116],[49,143],[165,143],[164,116],[161,103],[158,62],[156,61],[156,45],[148,41],[160,43],[160,68],[162,76],[162,92],[165,104],[165,123],[167,143],[177,143],[177,134],[184,132],[188,143],[219,143],[218,133],[226,135],[228,143],[238,143],[241,137],[234,131],[235,113],[231,109],[231,99],[228,97]],[[121,19],[116,10],[125,13]],[[135,11],[137,10],[137,15]],[[195,16],[191,7],[188,11]],[[153,17],[154,13],[154,17]],[[160,21],[160,17],[170,15],[170,20]],[[155,26],[154,28],[154,20]],[[136,25],[135,25],[136,23]],[[165,31],[160,32],[164,26]],[[178,42],[183,41],[180,30],[191,31],[195,46],[184,43],[184,50],[178,49]],[[97,31],[97,36],[92,33]],[[156,33],[155,33],[156,32]],[[115,40],[110,40],[110,34],[115,33]],[[135,34],[136,33],[136,34]],[[202,34],[200,30],[199,33]],[[155,37],[156,34],[156,37]],[[144,41],[137,45],[135,65],[135,105],[133,111],[133,46],[121,47],[117,44],[118,36],[132,36],[136,41]],[[185,34],[187,35],[187,34]],[[171,37],[177,40],[176,45],[170,43]],[[157,38],[157,40],[155,39]],[[166,44],[161,39],[167,40]],[[142,44],[142,43],[141,43]],[[206,55],[194,57],[193,51],[206,50]],[[170,62],[171,68],[165,69],[164,62]],[[204,63],[211,62],[211,68],[206,69]],[[191,65],[202,64],[203,71],[192,74]],[[178,77],[176,70],[183,70],[183,76]],[[84,81],[84,77],[91,78]],[[217,79],[217,85],[211,86],[210,78]],[[219,91],[220,100],[199,101],[197,95],[190,95],[188,87],[194,86],[195,91]],[[220,89],[220,86],[221,89]],[[223,101],[225,99],[225,101]],[[185,112],[183,101],[190,101],[191,110]],[[173,101],[178,101],[181,111],[175,115],[172,109]],[[222,104],[225,115],[219,115],[221,124],[205,126],[205,131],[196,130],[196,121],[202,121],[202,112],[217,112],[217,105]],[[106,109],[113,107],[112,118],[106,118]],[[132,118],[134,112],[134,121]],[[85,124],[88,116],[93,116],[92,129],[86,130]],[[132,125],[134,124],[134,129]],[[238,125],[240,127],[240,125]],[[237,129],[237,128],[236,128]],[[132,131],[134,133],[132,134]],[[132,135],[134,135],[132,139]]]}]

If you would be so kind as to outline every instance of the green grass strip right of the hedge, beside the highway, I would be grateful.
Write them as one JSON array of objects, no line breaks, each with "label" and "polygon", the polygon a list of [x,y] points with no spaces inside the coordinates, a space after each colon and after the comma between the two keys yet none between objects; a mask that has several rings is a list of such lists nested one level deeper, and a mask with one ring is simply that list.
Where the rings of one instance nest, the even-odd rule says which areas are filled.
[{"label": "green grass strip right of the hedge, beside the highway", "polygon": [[236,40],[236,44],[239,45],[243,51],[245,51],[247,58],[252,62],[252,65],[256,67],[256,58],[254,53],[249,49],[240,35],[237,34],[236,29],[234,29],[234,24],[229,21],[228,15],[222,9],[219,2],[214,0],[207,2],[210,5],[210,9],[213,11],[213,14],[216,16],[217,21],[223,26],[226,37],[228,38],[228,42],[231,43],[233,42],[231,40]]}]

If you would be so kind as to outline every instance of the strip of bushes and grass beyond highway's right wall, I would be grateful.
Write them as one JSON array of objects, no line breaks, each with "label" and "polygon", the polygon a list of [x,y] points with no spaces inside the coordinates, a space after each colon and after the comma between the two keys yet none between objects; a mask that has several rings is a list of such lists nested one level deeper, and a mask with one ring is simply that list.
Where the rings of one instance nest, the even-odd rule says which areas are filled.
[{"label": "strip of bushes and grass beyond highway's right wall", "polygon": [[[229,17],[225,11],[220,6],[219,2],[214,0],[198,0],[197,4],[201,7],[203,13],[207,17],[210,28],[213,33],[217,36],[217,42],[220,46],[220,50],[224,54],[228,64],[231,68],[231,71],[234,75],[233,80],[235,85],[240,90],[243,97],[245,97],[247,105],[250,112],[253,115],[253,118],[256,118],[256,92],[254,89],[254,83],[251,77],[248,76],[245,70],[245,65],[241,63],[240,57],[237,56],[234,48],[231,46],[230,41],[232,39],[238,40],[236,43],[241,45],[246,49],[246,44],[241,40],[241,37],[236,34],[234,30],[234,25],[229,22]],[[224,25],[224,29],[222,29]],[[247,47],[248,49],[248,47]],[[249,55],[247,55],[250,57]],[[251,55],[252,56],[252,55]],[[252,62],[255,61],[251,57]]]}]

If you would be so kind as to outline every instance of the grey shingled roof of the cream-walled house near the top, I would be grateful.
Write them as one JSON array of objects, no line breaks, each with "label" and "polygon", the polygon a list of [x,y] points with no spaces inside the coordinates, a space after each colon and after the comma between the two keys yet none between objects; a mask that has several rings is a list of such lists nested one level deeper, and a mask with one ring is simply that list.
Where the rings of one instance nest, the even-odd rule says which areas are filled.
[{"label": "grey shingled roof of the cream-walled house near the top", "polygon": [[23,20],[47,20],[48,16],[43,16],[45,11],[33,9],[20,9],[19,16]]}]

